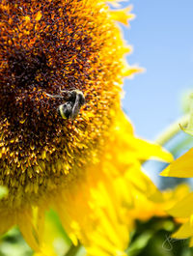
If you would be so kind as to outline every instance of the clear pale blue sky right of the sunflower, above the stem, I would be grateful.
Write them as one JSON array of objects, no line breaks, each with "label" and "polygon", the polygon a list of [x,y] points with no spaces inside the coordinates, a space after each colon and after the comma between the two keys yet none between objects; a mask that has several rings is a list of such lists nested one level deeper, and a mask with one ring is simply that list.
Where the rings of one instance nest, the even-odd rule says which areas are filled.
[{"label": "clear pale blue sky right of the sunflower, above the stem", "polygon": [[124,81],[123,107],[136,133],[154,139],[179,118],[182,94],[193,90],[193,0],[126,4],[136,14],[124,28],[124,39],[134,47],[127,59],[147,71]]}]

